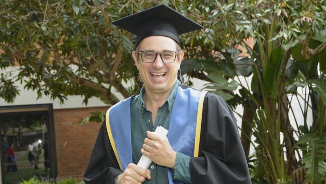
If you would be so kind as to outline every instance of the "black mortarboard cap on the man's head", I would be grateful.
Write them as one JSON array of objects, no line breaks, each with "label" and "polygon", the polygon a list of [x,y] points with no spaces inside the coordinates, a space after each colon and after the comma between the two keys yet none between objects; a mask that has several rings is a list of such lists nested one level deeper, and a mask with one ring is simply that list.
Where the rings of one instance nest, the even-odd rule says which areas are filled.
[{"label": "black mortarboard cap on the man's head", "polygon": [[135,13],[112,24],[136,35],[136,45],[149,36],[166,36],[180,44],[179,35],[203,28],[166,5]]}]

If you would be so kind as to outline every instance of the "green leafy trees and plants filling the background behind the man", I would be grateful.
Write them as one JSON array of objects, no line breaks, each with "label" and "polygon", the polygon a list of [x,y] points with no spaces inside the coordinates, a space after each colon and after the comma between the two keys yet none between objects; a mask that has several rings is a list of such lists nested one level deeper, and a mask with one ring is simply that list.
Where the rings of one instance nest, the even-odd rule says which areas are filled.
[{"label": "green leafy trees and plants filling the background behind the man", "polygon": [[[241,141],[253,182],[325,182],[324,0],[0,0],[0,69],[20,65],[1,73],[0,98],[14,102],[15,81],[61,102],[82,95],[85,103],[98,97],[114,104],[113,90],[124,98],[137,94],[142,84],[130,55],[135,37],[111,22],[158,4],[204,26],[181,36],[182,69],[188,84],[194,77],[209,81],[207,90],[243,106]],[[249,55],[239,55],[237,45]],[[301,102],[299,112],[294,100]]]}]

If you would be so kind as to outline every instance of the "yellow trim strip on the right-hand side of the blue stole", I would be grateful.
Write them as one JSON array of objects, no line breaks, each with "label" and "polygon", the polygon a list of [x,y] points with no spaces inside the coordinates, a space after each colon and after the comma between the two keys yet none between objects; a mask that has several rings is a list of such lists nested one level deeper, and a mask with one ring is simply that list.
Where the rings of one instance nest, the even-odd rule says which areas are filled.
[{"label": "yellow trim strip on the right-hand side of the blue stole", "polygon": [[202,128],[203,105],[204,105],[204,98],[205,98],[206,93],[207,93],[207,91],[202,91],[200,94],[200,97],[199,97],[194,157],[198,157],[198,153],[199,153],[199,141],[200,141],[200,131]]}]

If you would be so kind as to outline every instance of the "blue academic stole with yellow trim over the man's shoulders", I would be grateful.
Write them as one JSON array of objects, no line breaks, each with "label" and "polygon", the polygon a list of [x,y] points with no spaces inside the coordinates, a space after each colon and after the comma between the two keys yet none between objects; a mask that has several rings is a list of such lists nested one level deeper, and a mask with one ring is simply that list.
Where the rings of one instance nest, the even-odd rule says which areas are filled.
[{"label": "blue academic stole with yellow trim over the man's shoulders", "polygon": [[[168,139],[172,148],[189,156],[198,156],[204,97],[207,91],[178,87],[169,125]],[[132,162],[130,100],[125,99],[106,112],[106,128],[121,170]],[[168,168],[170,183],[173,169]]]}]

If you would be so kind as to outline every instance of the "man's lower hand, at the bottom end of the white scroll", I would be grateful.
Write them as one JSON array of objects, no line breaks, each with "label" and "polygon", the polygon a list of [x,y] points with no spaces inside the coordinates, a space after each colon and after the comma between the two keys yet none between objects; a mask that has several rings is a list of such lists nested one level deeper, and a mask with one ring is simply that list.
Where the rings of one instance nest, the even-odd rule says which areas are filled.
[{"label": "man's lower hand, at the bottom end of the white scroll", "polygon": [[129,163],[127,168],[117,176],[115,183],[140,184],[145,181],[145,178],[150,179],[150,170],[145,170],[142,167],[135,165],[134,163]]}]

